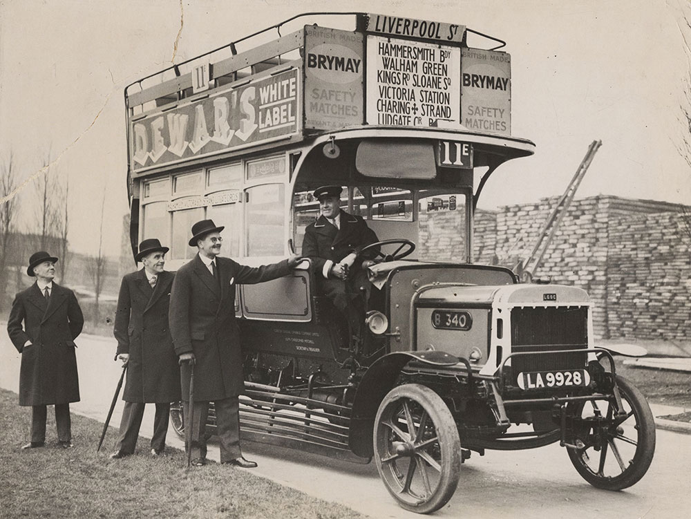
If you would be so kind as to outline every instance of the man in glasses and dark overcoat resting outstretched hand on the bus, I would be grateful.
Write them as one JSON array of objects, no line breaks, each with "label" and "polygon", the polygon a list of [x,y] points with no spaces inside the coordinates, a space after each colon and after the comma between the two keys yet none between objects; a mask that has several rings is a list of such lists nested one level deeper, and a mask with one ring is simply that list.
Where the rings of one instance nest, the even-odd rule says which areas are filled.
[{"label": "man in glasses and dark overcoat resting outstretched hand on the bus", "polygon": [[[192,464],[206,463],[205,424],[209,402],[214,402],[220,462],[250,468],[256,463],[245,460],[240,450],[238,395],[243,393],[245,382],[235,320],[235,287],[287,276],[299,258],[294,255],[261,267],[221,258],[223,228],[217,227],[213,220],[202,220],[192,226],[189,245],[197,247],[198,254],[176,273],[169,321],[175,352],[182,361],[182,412],[185,427],[191,427],[188,448]],[[194,364],[192,408],[189,405],[191,363]]]}]

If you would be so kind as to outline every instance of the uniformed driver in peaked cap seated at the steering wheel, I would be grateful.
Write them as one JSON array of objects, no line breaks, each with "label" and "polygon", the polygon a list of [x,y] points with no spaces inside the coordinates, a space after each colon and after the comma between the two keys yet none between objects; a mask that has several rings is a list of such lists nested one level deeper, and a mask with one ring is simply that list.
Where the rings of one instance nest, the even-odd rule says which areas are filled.
[{"label": "uniformed driver in peaked cap seated at the steering wheel", "polygon": [[[341,191],[341,186],[315,189],[321,215],[305,229],[302,256],[312,261],[321,294],[348,316],[353,333],[359,334],[364,317],[360,288],[364,287],[369,294],[372,284],[367,267],[375,263],[372,258],[378,251],[373,248],[365,254],[359,252],[379,240],[361,216],[341,210]],[[348,288],[343,283],[346,272]]]}]

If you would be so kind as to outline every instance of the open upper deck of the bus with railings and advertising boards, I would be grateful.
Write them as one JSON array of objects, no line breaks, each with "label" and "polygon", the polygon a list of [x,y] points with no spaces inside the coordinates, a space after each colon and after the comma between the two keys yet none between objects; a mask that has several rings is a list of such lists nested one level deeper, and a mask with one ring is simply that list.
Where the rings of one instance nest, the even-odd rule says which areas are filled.
[{"label": "open upper deck of the bus with railings and advertising boards", "polygon": [[[287,23],[354,17],[354,30]],[[278,38],[238,53],[276,30]],[[491,41],[471,48],[468,35]],[[511,134],[504,41],[453,23],[307,13],[125,89],[131,173],[354,126]]]}]

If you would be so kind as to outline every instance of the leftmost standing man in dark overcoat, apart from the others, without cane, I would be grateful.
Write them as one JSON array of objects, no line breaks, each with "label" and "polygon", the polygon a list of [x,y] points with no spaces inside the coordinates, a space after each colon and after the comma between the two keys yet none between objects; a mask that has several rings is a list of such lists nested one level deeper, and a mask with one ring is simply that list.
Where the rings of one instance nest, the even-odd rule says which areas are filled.
[{"label": "leftmost standing man in dark overcoat, apart from the others, without cane", "polygon": [[72,446],[70,402],[79,402],[75,339],[84,316],[75,293],[53,282],[56,261],[48,252],[32,254],[26,273],[36,283],[15,296],[7,323],[21,353],[19,405],[32,408],[31,441],[22,449],[46,444],[48,405],[55,405],[58,445]]}]

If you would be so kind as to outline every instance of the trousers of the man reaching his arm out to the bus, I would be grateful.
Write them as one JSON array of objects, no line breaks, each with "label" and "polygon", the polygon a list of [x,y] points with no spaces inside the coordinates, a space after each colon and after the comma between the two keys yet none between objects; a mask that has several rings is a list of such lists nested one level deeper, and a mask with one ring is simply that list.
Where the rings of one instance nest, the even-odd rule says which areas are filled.
[{"label": "trousers of the man reaching his arm out to the bus", "polygon": [[[235,460],[243,455],[240,451],[240,416],[238,397],[229,397],[214,402],[216,407],[216,435],[220,440],[220,462]],[[209,414],[209,402],[194,402],[194,416],[189,420],[189,402],[182,402],[182,413],[186,438],[187,426],[191,426],[191,458],[207,457],[205,425]],[[190,423],[191,422],[191,423]]]}]

